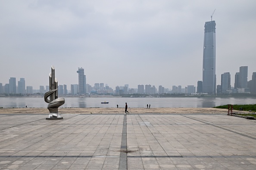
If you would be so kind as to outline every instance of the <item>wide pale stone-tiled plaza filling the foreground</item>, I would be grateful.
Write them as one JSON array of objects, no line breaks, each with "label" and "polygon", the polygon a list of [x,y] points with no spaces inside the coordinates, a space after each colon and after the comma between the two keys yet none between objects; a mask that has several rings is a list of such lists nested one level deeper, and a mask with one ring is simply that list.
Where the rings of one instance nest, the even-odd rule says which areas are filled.
[{"label": "wide pale stone-tiled plaza filling the foreground", "polygon": [[256,120],[201,113],[61,115],[0,114],[0,169],[256,169]]}]

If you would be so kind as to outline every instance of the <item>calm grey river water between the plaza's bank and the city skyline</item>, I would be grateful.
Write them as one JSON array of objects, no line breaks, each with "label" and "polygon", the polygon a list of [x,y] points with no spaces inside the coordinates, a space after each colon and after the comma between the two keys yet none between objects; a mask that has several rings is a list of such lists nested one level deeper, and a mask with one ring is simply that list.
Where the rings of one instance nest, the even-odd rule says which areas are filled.
[{"label": "calm grey river water between the plaza's bank and the city skyline", "polygon": [[[62,108],[120,108],[125,107],[127,102],[130,108],[209,108],[226,104],[255,104],[256,98],[74,98],[66,97]],[[101,104],[100,102],[109,102]],[[44,98],[6,98],[0,97],[0,107],[3,108],[47,108]]]}]

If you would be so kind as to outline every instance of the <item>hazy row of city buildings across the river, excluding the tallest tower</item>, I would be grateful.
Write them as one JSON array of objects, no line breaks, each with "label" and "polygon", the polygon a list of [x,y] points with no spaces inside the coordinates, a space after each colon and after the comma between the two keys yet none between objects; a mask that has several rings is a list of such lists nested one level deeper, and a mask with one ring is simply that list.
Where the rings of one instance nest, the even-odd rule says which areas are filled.
[{"label": "hazy row of city buildings across the river, excluding the tallest tower", "polygon": [[[252,73],[252,76],[250,76],[250,75],[248,75],[248,66],[240,66],[239,67],[239,71],[240,72],[237,72],[235,75],[234,75],[234,81],[235,81],[235,83],[234,83],[234,85],[233,84],[231,84],[231,74],[229,73],[229,72],[226,72],[226,73],[223,73],[223,74],[221,74],[221,77],[220,77],[220,79],[221,79],[221,84],[217,84],[217,86],[222,86],[222,93],[225,93],[225,92],[223,92],[223,90],[231,90],[231,87],[233,88],[233,89],[236,89],[236,88],[239,88],[239,89],[241,89],[241,88],[249,88],[249,86],[252,86],[253,85],[253,87],[252,88],[256,88],[256,87],[254,87],[255,85],[255,73],[256,72],[253,72]],[[72,91],[74,91],[74,86],[77,86],[77,87],[75,87],[75,89],[77,89],[77,91],[78,91],[78,89],[79,89],[79,80],[81,79],[81,77],[84,77],[84,79],[81,79],[81,82],[84,82],[84,83],[86,83],[86,75],[84,75],[84,69],[83,68],[79,68],[78,67],[78,71],[77,71],[77,73],[78,73],[78,83],[73,83],[73,84],[69,84],[68,86],[66,85],[66,84],[59,84],[59,86],[60,86],[60,90],[59,90],[59,92],[58,93],[60,93],[60,94],[67,94],[67,90],[68,91],[70,91],[70,93],[72,93]],[[227,76],[225,76],[225,78],[223,79],[223,76],[224,75],[228,75],[228,78],[227,78]],[[250,80],[250,78],[249,78],[249,80],[248,80],[248,76],[249,77],[252,77],[251,78],[251,80]],[[253,79],[254,78],[254,79]],[[237,79],[237,80],[236,80]],[[251,82],[253,82],[254,84],[251,84],[251,85],[249,85],[248,84],[248,86],[247,86],[247,83],[250,83],[250,81]],[[237,83],[236,83],[237,82]],[[82,83],[82,87],[84,87],[84,83]],[[199,83],[200,83],[200,85],[199,85]],[[223,87],[223,83],[225,84],[224,86],[225,87]],[[10,77],[9,78],[9,83],[6,83],[6,84],[8,84],[8,91],[9,91],[9,93],[18,93],[18,92],[20,92],[20,91],[25,91],[25,88],[27,89],[27,91],[28,91],[28,88],[31,88],[32,86],[29,86],[29,85],[25,85],[25,78],[20,78],[20,80],[18,80],[17,79],[17,81],[16,81],[16,77]],[[116,87],[122,87],[122,89],[123,88],[125,88],[126,90],[125,91],[128,91],[128,89],[137,89],[138,90],[138,93],[141,93],[141,88],[143,89],[144,88],[144,86],[145,86],[145,89],[144,89],[144,91],[146,92],[146,93],[149,93],[149,91],[150,91],[150,88],[151,88],[151,86],[153,87],[153,88],[156,88],[156,91],[158,91],[158,93],[160,94],[160,93],[164,93],[163,92],[163,90],[165,90],[165,89],[169,89],[169,90],[172,90],[173,91],[173,93],[181,93],[181,88],[182,89],[184,89],[184,87],[185,88],[188,88],[189,89],[189,87],[194,87],[195,88],[195,90],[194,90],[194,92],[193,93],[195,93],[195,92],[197,92],[198,90],[197,90],[197,87],[199,87],[200,88],[200,90],[199,90],[199,92],[198,93],[205,93],[205,92],[203,92],[203,82],[202,81],[198,81],[197,82],[197,85],[186,85],[186,86],[181,86],[181,85],[178,85],[178,84],[175,84],[175,85],[172,85],[172,88],[171,87],[163,87],[162,85],[158,85],[158,86],[156,86],[156,85],[154,85],[154,84],[138,84],[137,85],[137,87],[131,87],[131,88],[129,88],[129,84],[118,84],[118,85],[116,85],[115,87],[109,87],[108,86],[108,84],[107,83],[94,83],[94,86],[91,86],[91,84],[88,84],[88,83],[86,83],[86,86],[84,87],[85,88],[85,91],[86,91],[86,89],[88,89],[88,87],[87,87],[87,85],[90,85],[90,89],[91,88],[95,88],[95,90],[97,91],[97,90],[103,90],[105,87],[107,87],[107,88],[109,88],[109,89],[114,89],[114,88],[116,88]],[[3,90],[2,91],[4,91],[4,88],[5,88],[5,84],[4,83],[1,83],[0,82],[0,85],[1,86],[3,86]],[[105,86],[104,86],[105,85]],[[16,86],[16,88],[14,88]],[[46,87],[46,88],[44,88],[44,86]],[[37,89],[37,88],[33,88],[33,90],[39,90],[39,93],[43,93],[42,91],[44,91],[44,93],[45,92],[47,92],[47,90],[49,91],[49,86],[47,87],[48,85],[40,85],[39,86],[39,89]],[[67,87],[69,87],[69,88],[67,88]],[[158,88],[157,88],[158,87]],[[175,88],[177,88],[177,89],[175,89],[174,90],[174,87]],[[147,90],[146,90],[146,88],[147,88]],[[202,89],[201,89],[202,88]],[[159,89],[159,90],[157,90],[157,89]],[[160,90],[161,89],[161,90]],[[217,87],[217,89],[216,90],[218,90],[218,87]],[[11,92],[12,91],[12,92]],[[15,92],[16,91],[16,92]],[[81,90],[81,91],[83,91],[83,90]],[[191,91],[191,90],[190,90]],[[232,91],[232,90],[231,90]],[[254,92],[255,90],[253,90],[253,92]],[[1,91],[0,91],[1,92]],[[87,93],[90,93],[90,92],[87,92]],[[182,92],[183,93],[183,92]],[[81,93],[80,91],[78,91],[78,94],[85,94],[85,93]],[[209,93],[210,94],[210,93]]]}]

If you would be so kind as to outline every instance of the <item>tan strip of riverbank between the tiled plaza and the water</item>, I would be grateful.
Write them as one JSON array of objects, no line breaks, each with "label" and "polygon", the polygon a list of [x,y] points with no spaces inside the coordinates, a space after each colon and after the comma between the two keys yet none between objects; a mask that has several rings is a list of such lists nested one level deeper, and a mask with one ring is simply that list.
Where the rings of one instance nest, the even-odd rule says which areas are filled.
[{"label": "tan strip of riverbank between the tiled plaza and the water", "polygon": [[[128,108],[129,113],[174,113],[174,114],[226,114],[228,109],[224,108]],[[247,113],[248,111],[238,111]],[[49,114],[47,108],[0,108],[0,114]],[[60,114],[111,114],[125,113],[125,108],[59,108]]]}]

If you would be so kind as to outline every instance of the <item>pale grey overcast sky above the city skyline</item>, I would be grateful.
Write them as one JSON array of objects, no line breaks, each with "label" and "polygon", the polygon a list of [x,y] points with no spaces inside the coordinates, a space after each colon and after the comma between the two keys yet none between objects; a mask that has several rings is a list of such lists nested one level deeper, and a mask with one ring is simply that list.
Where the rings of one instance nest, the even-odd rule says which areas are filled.
[{"label": "pale grey overcast sky above the city skyline", "polygon": [[216,22],[216,77],[256,72],[256,0],[0,0],[0,83],[197,86],[204,24]]}]

